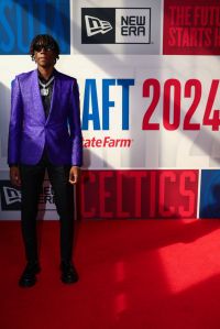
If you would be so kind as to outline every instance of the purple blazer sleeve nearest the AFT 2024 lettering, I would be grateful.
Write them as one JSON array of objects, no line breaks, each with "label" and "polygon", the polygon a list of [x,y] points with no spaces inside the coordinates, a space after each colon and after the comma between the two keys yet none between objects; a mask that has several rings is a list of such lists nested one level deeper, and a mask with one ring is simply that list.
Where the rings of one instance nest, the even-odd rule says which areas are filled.
[{"label": "purple blazer sleeve nearest the AFT 2024 lettering", "polygon": [[72,139],[72,165],[82,165],[82,135],[80,124],[80,103],[79,89],[77,80],[74,79],[70,111],[69,111],[69,130]]}]

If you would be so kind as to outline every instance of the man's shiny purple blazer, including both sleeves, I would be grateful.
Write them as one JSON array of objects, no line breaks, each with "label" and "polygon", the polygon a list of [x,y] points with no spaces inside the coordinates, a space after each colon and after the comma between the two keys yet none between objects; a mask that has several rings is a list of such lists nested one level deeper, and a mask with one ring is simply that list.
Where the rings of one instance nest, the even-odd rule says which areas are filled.
[{"label": "man's shiny purple blazer, including both sleeves", "polygon": [[8,163],[36,164],[44,147],[54,165],[82,163],[82,139],[77,80],[54,70],[47,119],[38,87],[37,69],[12,81]]}]

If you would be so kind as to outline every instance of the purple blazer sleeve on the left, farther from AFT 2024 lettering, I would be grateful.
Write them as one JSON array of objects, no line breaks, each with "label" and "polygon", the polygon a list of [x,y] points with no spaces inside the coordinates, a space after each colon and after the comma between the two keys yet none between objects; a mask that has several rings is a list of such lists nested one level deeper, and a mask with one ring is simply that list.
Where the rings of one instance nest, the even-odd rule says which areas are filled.
[{"label": "purple blazer sleeve on the left, farther from AFT 2024 lettering", "polygon": [[8,142],[8,164],[20,163],[20,145],[23,122],[23,105],[20,90],[19,78],[11,85],[11,117],[9,123],[9,142]]}]

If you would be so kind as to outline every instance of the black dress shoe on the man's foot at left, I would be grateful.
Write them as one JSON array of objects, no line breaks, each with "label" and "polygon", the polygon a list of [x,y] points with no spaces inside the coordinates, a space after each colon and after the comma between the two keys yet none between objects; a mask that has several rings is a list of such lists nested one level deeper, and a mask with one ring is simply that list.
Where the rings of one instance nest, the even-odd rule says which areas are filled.
[{"label": "black dress shoe on the man's foot at left", "polygon": [[36,283],[36,274],[40,273],[40,271],[38,262],[28,263],[19,279],[20,287],[24,288],[34,286]]}]

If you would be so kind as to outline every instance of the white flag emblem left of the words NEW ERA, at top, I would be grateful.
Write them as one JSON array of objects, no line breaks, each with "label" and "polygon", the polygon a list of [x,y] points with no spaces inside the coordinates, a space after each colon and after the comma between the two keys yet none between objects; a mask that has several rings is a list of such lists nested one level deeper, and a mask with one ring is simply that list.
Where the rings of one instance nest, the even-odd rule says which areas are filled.
[{"label": "white flag emblem left of the words NEW ERA, at top", "polygon": [[113,29],[110,22],[102,21],[90,15],[85,15],[85,22],[88,36],[92,36],[98,33],[105,34]]}]

